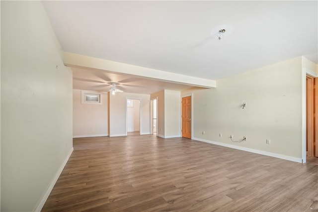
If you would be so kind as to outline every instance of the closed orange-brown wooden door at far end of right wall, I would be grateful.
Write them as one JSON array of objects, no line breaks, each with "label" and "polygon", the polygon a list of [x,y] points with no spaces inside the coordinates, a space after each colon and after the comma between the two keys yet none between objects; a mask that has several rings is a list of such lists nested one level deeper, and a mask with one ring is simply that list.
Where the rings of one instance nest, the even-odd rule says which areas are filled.
[{"label": "closed orange-brown wooden door at far end of right wall", "polygon": [[191,139],[191,96],[182,98],[182,137]]}]

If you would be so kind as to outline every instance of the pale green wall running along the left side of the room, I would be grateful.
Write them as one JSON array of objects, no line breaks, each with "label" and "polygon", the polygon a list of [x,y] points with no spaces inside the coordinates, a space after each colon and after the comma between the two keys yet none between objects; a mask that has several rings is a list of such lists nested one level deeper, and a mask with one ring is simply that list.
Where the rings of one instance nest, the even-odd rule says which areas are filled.
[{"label": "pale green wall running along the left side of the room", "polygon": [[72,110],[41,1],[1,1],[1,211],[41,210],[73,149]]}]

